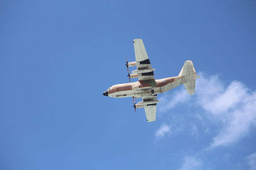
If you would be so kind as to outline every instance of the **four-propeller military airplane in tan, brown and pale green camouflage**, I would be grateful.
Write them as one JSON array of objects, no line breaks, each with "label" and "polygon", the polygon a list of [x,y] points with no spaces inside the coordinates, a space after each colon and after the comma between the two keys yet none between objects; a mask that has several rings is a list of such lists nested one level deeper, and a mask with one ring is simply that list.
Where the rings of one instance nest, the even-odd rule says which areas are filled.
[{"label": "four-propeller military airplane in tan, brown and pale green camouflage", "polygon": [[[130,83],[112,85],[106,92],[103,92],[103,95],[115,98],[132,97],[134,111],[136,112],[136,108],[144,107],[147,121],[153,122],[156,121],[156,103],[160,102],[156,99],[157,94],[167,92],[182,84],[188,94],[194,94],[196,78],[199,76],[196,75],[192,61],[188,60],[178,76],[155,79],[154,70],[156,69],[151,66],[142,39],[134,39],[133,45],[136,61],[128,63],[126,58],[125,64]],[[133,66],[137,66],[137,70],[133,70],[130,74],[128,67]],[[139,78],[139,81],[131,83],[131,78]],[[142,101],[135,104],[134,98],[142,98]]]}]

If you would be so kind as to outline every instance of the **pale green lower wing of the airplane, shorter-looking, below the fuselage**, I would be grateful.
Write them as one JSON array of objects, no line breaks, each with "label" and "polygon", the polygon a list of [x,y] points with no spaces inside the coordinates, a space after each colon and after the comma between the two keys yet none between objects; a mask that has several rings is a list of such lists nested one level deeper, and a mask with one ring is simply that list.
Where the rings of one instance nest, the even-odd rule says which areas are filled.
[{"label": "pale green lower wing of the airplane, shorter-looking, below the fuselage", "polygon": [[[143,100],[156,100],[156,95],[142,97]],[[156,121],[156,103],[144,107],[148,122]]]}]

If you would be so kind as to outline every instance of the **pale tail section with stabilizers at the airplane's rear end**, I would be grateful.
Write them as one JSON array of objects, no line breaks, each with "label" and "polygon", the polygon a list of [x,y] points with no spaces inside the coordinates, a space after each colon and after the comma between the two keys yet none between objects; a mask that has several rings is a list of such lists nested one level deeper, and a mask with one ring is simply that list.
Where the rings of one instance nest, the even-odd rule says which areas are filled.
[{"label": "pale tail section with stabilizers at the airplane's rear end", "polygon": [[191,60],[184,63],[179,76],[185,77],[184,86],[188,94],[195,94],[196,78],[199,78],[199,76],[196,76],[196,70]]}]

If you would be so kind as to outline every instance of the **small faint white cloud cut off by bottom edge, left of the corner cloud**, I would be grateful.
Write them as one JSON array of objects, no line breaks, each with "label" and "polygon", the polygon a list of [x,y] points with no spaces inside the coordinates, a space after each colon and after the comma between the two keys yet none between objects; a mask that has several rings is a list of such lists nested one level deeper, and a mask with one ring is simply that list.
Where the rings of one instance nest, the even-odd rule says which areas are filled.
[{"label": "small faint white cloud cut off by bottom edge, left of the corner cloud", "polygon": [[198,170],[201,169],[202,161],[201,159],[196,159],[192,156],[185,156],[184,163],[180,170]]}]

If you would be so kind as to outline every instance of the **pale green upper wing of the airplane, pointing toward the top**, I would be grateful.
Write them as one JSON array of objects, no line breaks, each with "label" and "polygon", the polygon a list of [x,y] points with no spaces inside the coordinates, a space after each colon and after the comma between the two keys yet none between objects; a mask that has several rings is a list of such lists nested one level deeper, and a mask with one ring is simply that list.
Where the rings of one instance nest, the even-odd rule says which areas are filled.
[{"label": "pale green upper wing of the airplane, pointing toward the top", "polygon": [[[148,59],[148,54],[146,52],[142,39],[134,39],[133,45],[134,45],[137,70],[152,69],[152,66]],[[139,80],[155,79],[153,70],[146,73],[141,73],[141,74],[139,73],[138,76],[139,76]]]}]

